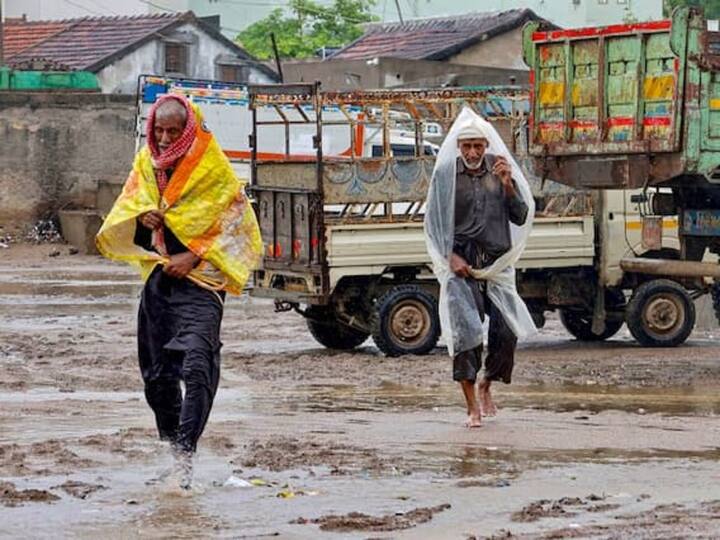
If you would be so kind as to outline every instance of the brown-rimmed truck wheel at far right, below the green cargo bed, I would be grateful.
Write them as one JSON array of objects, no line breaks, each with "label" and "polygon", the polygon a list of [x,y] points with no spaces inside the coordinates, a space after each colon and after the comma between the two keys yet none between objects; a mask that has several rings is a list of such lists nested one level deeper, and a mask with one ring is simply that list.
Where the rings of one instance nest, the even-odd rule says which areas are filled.
[{"label": "brown-rimmed truck wheel at far right, below the green cargo bed", "polygon": [[640,285],[625,311],[630,333],[646,347],[676,347],[695,326],[695,304],[687,291],[669,279]]}]

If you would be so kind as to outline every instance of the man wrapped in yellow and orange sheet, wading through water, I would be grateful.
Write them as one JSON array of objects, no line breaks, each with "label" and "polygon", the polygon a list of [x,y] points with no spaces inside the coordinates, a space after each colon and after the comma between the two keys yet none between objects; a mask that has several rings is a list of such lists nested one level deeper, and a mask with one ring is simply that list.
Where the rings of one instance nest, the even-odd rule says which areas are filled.
[{"label": "man wrapped in yellow and orange sheet, wading through water", "polygon": [[145,280],[138,314],[145,396],[160,438],[170,442],[169,472],[189,489],[220,378],[225,293],[242,292],[262,241],[244,183],[197,107],[179,95],[160,98],[147,143],[96,243]]}]

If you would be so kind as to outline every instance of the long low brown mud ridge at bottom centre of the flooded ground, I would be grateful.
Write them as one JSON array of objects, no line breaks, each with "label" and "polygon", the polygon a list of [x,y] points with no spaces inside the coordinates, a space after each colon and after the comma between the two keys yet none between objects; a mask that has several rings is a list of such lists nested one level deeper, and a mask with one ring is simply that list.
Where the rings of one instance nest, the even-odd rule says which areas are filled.
[{"label": "long low brown mud ridge at bottom centre of the flooded ground", "polygon": [[351,532],[351,531],[400,531],[410,529],[430,521],[435,514],[450,509],[449,504],[441,504],[432,508],[415,508],[409,512],[385,516],[368,516],[360,512],[350,512],[344,516],[322,516],[307,520],[299,518],[293,523],[304,525],[314,523],[320,525],[321,531]]}]

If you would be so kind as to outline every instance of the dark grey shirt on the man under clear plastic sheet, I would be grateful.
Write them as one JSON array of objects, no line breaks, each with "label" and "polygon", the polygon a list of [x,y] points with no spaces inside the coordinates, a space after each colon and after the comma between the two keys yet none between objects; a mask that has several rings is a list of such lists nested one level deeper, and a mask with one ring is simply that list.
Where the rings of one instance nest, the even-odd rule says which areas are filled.
[{"label": "dark grey shirt on the man under clear plastic sheet", "polygon": [[527,219],[527,204],[517,189],[512,197],[505,195],[500,179],[490,172],[494,164],[492,154],[485,155],[477,171],[457,161],[453,251],[471,266],[488,266],[509,251],[510,223],[522,225]]}]

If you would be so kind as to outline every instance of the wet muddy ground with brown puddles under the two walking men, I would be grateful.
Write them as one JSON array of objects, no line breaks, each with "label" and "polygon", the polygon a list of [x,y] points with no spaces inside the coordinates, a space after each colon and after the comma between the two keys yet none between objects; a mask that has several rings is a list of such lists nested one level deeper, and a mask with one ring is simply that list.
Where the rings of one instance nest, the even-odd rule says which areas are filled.
[{"label": "wet muddy ground with brown puddles under the two walking men", "polygon": [[470,431],[444,350],[326,351],[295,315],[233,299],[182,496],[146,485],[169,457],[135,366],[134,276],[27,259],[0,263],[2,536],[720,536],[711,332],[672,351],[587,346],[551,320],[497,389],[500,415]]}]

